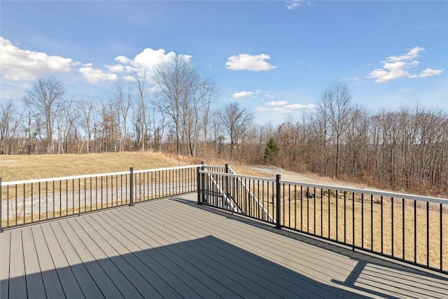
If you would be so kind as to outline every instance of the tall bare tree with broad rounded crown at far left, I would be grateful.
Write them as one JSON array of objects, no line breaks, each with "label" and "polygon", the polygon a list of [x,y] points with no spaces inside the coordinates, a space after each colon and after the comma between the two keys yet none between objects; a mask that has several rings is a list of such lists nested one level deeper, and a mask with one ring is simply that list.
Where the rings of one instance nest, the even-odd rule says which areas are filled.
[{"label": "tall bare tree with broad rounded crown at far left", "polygon": [[41,116],[41,123],[45,130],[45,136],[41,139],[45,144],[47,153],[55,153],[55,141],[53,130],[55,125],[55,113],[64,100],[64,87],[62,83],[52,78],[38,78],[33,87],[22,98],[34,116]]}]

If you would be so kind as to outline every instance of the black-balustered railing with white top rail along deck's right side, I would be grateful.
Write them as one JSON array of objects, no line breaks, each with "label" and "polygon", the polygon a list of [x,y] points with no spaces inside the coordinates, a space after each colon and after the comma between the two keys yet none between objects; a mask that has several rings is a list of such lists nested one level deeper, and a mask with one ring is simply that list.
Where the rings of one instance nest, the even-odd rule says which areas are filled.
[{"label": "black-balustered railing with white top rail along deck's right side", "polygon": [[198,172],[201,204],[448,272],[447,199]]}]

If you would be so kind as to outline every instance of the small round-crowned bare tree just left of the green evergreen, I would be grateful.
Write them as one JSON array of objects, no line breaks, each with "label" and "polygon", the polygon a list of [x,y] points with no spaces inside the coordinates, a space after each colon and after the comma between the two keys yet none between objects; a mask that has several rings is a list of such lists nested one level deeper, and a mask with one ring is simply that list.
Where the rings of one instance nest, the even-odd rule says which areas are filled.
[{"label": "small round-crowned bare tree just left of the green evergreen", "polygon": [[251,126],[253,113],[239,106],[238,102],[231,102],[223,107],[221,111],[221,121],[223,131],[230,139],[230,158],[235,151],[235,146],[244,133]]}]

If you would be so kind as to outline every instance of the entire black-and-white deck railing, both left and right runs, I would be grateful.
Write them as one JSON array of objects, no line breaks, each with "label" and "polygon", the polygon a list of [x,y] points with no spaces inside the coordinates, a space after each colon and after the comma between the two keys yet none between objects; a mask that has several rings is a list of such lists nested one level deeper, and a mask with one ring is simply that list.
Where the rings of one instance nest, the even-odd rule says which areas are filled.
[{"label": "entire black-and-white deck railing, both left and right runs", "polygon": [[448,272],[447,199],[243,176],[228,165],[0,178],[0,230],[193,192],[199,204]]}]

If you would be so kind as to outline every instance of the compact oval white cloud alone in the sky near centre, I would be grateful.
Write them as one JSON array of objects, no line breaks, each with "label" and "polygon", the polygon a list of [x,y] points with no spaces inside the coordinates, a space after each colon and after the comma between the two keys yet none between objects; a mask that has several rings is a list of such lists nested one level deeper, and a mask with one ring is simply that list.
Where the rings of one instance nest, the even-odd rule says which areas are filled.
[{"label": "compact oval white cloud alone in the sky near centre", "polygon": [[269,69],[276,68],[265,61],[270,59],[271,57],[267,54],[239,54],[228,57],[225,67],[232,71],[269,71]]}]

